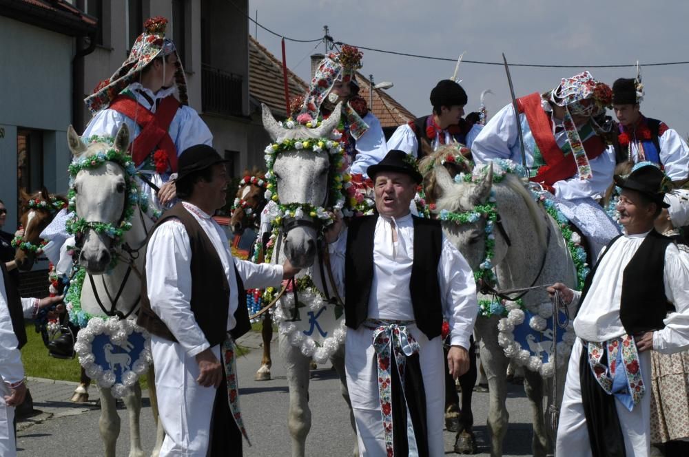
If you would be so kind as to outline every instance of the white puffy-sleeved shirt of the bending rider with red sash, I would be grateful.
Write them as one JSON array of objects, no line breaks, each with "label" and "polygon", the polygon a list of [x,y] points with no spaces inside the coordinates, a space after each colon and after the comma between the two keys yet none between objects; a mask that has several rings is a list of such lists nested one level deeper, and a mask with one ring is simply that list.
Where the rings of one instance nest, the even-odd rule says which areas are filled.
[{"label": "white puffy-sleeved shirt of the bending rider with red sash", "polygon": [[[525,114],[520,114],[522,134],[524,134],[524,155],[526,165],[533,166],[533,147],[535,146],[533,136],[530,134],[528,121]],[[471,156],[477,164],[486,163],[493,159],[509,159],[519,164],[522,163],[522,148],[519,140],[519,125],[515,118],[515,111],[512,105],[497,111],[495,116],[489,120],[486,126],[476,136],[471,145]],[[584,140],[584,138],[582,138]],[[567,141],[565,131],[555,134],[555,142],[559,147],[563,147]],[[571,158],[574,160],[574,158]],[[575,198],[601,198],[610,182],[613,182],[613,172],[615,171],[615,151],[608,148],[601,155],[593,160],[589,160],[591,174],[590,180],[580,180],[578,176],[560,180],[553,184],[555,196],[564,200]]]}]

